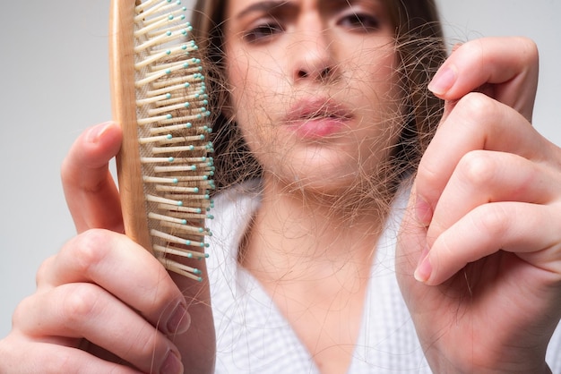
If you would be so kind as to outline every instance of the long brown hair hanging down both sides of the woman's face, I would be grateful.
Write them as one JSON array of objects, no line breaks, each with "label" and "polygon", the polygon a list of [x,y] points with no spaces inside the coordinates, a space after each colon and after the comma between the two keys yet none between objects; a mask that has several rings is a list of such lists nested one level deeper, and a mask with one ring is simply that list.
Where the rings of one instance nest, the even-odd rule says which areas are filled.
[{"label": "long brown hair hanging down both sides of the woman's face", "polygon": [[[213,113],[216,184],[239,183],[261,175],[261,167],[246,148],[236,123],[224,115],[229,105],[223,77],[222,24],[227,0],[197,0],[192,24],[194,37],[207,66],[207,86]],[[442,27],[434,0],[382,0],[395,28],[398,73],[405,93],[400,140],[392,153],[393,190],[402,175],[411,174],[436,130],[443,103],[427,84],[444,62],[446,51]],[[231,112],[231,110],[229,110]]]}]

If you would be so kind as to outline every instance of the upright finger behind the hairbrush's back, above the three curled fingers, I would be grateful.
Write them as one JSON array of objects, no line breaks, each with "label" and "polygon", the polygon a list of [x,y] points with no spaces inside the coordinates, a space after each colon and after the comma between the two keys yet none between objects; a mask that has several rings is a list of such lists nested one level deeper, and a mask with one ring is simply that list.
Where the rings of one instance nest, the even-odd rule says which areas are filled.
[{"label": "upright finger behind the hairbrush's back, above the three curled fingers", "polygon": [[63,187],[79,233],[90,228],[124,230],[117,187],[108,168],[121,139],[116,123],[101,123],[83,132],[65,157]]}]

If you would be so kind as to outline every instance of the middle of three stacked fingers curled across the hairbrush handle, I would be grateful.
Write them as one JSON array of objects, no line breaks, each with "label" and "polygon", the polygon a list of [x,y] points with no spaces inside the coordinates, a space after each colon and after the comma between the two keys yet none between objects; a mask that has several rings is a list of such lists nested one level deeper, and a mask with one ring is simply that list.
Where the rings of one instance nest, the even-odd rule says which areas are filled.
[{"label": "middle of three stacked fingers curled across the hairbrush handle", "polygon": [[97,285],[63,285],[38,293],[23,302],[16,322],[25,335],[39,339],[84,338],[143,372],[181,368],[180,354],[166,336]]}]

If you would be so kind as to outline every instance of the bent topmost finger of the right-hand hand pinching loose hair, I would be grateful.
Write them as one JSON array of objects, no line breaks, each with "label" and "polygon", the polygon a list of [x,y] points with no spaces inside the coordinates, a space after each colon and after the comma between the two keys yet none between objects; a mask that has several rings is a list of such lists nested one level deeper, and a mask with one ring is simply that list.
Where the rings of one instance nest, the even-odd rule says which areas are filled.
[{"label": "bent topmost finger of the right-hand hand pinching loose hair", "polygon": [[528,38],[480,38],[454,49],[428,88],[457,100],[486,84],[490,95],[531,121],[539,54]]}]

